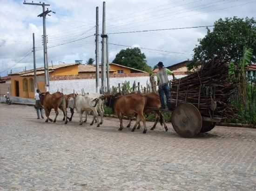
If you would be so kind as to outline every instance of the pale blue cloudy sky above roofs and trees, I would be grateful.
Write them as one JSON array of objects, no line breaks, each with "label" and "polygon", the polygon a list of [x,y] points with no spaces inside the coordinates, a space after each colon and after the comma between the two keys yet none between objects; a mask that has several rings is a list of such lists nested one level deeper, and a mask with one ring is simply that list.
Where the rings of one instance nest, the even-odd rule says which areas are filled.
[{"label": "pale blue cloudy sky above roofs and trees", "polygon": [[[32,2],[32,0],[27,0]],[[39,3],[34,0],[34,3]],[[43,2],[43,1],[42,1]],[[100,32],[102,0],[46,0],[48,63],[74,63],[95,57],[95,7],[99,6]],[[0,0],[0,76],[13,71],[33,68],[32,34],[36,39],[36,64],[43,66],[41,6],[23,5],[22,0]],[[106,31],[138,30],[213,25],[219,18],[256,17],[256,0],[106,0]],[[109,60],[125,46],[141,49],[147,63],[154,66],[163,61],[172,65],[192,57],[198,38],[205,28],[159,32],[109,34]],[[81,39],[82,38],[82,39]],[[81,39],[81,40],[79,40]],[[73,43],[71,41],[77,40]],[[61,45],[64,44],[64,45]],[[100,46],[101,47],[101,46]],[[172,53],[176,52],[176,53]],[[22,59],[23,58],[23,59]]]}]

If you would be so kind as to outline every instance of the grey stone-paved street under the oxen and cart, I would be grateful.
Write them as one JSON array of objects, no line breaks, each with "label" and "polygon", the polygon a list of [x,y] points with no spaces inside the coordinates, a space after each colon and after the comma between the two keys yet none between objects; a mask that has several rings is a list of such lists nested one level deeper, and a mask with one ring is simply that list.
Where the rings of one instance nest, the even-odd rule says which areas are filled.
[{"label": "grey stone-paved street under the oxen and cart", "polygon": [[142,134],[118,131],[117,119],[61,119],[0,104],[0,191],[256,191],[256,129],[184,139],[170,124]]}]

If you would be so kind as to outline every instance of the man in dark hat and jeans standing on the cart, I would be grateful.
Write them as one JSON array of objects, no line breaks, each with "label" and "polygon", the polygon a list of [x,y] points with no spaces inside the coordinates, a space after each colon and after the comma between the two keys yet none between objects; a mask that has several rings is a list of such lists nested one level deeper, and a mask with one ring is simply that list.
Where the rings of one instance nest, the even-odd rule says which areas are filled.
[{"label": "man in dark hat and jeans standing on the cart", "polygon": [[164,67],[162,62],[159,62],[156,65],[158,66],[158,69],[159,69],[159,71],[156,73],[156,77],[157,77],[157,85],[158,85],[158,92],[160,96],[161,108],[165,109],[165,103],[164,103],[164,94],[165,94],[168,110],[171,110],[171,92],[169,88],[168,74],[172,75],[173,79],[175,79],[175,76],[171,70]]}]

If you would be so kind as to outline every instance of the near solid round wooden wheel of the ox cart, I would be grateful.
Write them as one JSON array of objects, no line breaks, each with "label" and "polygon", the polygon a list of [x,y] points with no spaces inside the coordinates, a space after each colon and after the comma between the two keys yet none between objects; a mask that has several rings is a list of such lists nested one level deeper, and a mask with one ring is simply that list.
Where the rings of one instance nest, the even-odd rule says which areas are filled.
[{"label": "near solid round wooden wheel of the ox cart", "polygon": [[194,137],[202,128],[201,113],[190,103],[182,103],[175,108],[171,122],[176,133],[185,138]]}]

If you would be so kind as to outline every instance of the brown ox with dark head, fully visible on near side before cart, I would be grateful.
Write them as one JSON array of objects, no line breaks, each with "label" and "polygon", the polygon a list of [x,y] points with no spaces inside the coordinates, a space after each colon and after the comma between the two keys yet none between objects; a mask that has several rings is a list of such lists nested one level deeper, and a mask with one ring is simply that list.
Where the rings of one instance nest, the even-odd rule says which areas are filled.
[{"label": "brown ox with dark head, fully visible on near side before cart", "polygon": [[143,122],[144,131],[143,134],[147,132],[146,127],[146,119],[143,115],[143,109],[145,106],[145,98],[139,94],[128,94],[125,96],[108,96],[107,105],[112,107],[115,114],[118,116],[120,120],[120,128],[121,131],[123,129],[122,117],[126,116],[137,116],[136,123],[133,127],[132,131],[135,131],[136,126],[140,121]]}]

